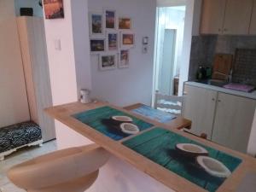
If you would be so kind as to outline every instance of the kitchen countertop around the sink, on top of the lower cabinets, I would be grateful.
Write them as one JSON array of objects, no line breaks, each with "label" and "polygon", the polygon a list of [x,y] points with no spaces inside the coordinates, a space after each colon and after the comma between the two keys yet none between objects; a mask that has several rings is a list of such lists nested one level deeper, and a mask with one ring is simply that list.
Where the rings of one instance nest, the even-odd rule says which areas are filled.
[{"label": "kitchen countertop around the sink, on top of the lower cabinets", "polygon": [[247,97],[249,99],[256,100],[256,90],[254,90],[253,92],[247,93],[247,92],[243,92],[243,91],[239,91],[239,90],[226,89],[224,87],[218,87],[218,86],[211,85],[211,84],[202,84],[202,83],[198,83],[195,81],[188,81],[188,82],[185,82],[185,84],[195,86],[195,87],[201,87],[201,88],[208,89],[208,90],[216,90],[218,92],[227,93],[227,94],[234,95],[234,96],[243,96],[243,97]]}]

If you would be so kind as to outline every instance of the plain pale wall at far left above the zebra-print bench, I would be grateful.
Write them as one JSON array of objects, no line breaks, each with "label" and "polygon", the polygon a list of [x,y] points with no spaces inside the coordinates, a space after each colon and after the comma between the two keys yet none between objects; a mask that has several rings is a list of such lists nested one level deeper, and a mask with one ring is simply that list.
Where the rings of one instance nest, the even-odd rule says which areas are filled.
[{"label": "plain pale wall at far left above the zebra-print bench", "polygon": [[14,0],[0,1],[0,127],[30,119]]}]

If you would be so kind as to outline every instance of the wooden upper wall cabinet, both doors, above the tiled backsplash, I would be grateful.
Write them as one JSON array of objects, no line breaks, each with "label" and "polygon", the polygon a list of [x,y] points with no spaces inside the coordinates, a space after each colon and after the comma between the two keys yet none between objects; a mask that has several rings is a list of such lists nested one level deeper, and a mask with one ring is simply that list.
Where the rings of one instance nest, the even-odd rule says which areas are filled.
[{"label": "wooden upper wall cabinet, both doors, above the tiled backsplash", "polygon": [[252,7],[253,0],[204,0],[201,33],[248,34]]}]

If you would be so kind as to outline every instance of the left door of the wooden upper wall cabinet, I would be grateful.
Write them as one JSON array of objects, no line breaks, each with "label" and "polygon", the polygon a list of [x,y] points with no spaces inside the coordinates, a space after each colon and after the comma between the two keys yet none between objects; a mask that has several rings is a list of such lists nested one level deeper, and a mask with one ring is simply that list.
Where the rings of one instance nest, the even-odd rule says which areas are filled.
[{"label": "left door of the wooden upper wall cabinet", "polygon": [[204,0],[201,15],[201,33],[222,33],[226,0]]}]

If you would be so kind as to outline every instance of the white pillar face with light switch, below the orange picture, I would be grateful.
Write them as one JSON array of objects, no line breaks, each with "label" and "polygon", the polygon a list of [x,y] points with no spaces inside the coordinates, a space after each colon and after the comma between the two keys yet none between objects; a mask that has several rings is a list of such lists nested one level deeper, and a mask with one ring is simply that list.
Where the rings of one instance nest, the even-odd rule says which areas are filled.
[{"label": "white pillar face with light switch, below the orange picture", "polygon": [[[44,19],[53,105],[76,102],[78,98],[71,0],[64,1],[64,11],[64,19]],[[55,49],[58,40],[61,50]]]}]

